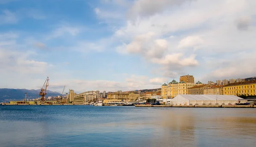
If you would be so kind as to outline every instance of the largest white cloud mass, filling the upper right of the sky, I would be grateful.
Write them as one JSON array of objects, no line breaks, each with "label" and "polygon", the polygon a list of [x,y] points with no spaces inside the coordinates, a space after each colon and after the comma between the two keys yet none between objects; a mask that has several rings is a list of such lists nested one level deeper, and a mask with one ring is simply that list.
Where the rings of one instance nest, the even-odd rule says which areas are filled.
[{"label": "largest white cloud mass, filling the upper right of the sky", "polygon": [[[216,69],[222,71],[226,68],[223,65],[213,69],[206,63],[256,48],[254,6],[253,0],[236,3],[232,0],[136,0],[128,8],[130,17],[126,24],[113,35],[122,38],[122,45],[116,50],[122,54],[138,54],[160,65],[160,69],[164,69],[162,75],[167,77],[188,71],[195,76],[211,74]],[[154,35],[147,35],[149,32]],[[157,47],[156,40],[165,40],[164,45]],[[238,56],[236,60],[243,58]],[[246,71],[249,67],[244,68]],[[233,75],[247,76],[242,71]]]}]

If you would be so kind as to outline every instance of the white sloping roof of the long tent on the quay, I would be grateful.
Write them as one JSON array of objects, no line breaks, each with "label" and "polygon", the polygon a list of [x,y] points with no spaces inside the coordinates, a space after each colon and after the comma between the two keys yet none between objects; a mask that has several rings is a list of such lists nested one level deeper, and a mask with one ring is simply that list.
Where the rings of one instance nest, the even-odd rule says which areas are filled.
[{"label": "white sloping roof of the long tent on the quay", "polygon": [[233,95],[205,95],[205,94],[180,94],[175,96],[175,98],[173,98],[173,100],[177,100],[177,99],[188,99],[189,101],[200,101],[200,100],[204,100],[204,101],[213,101],[213,100],[224,100],[224,101],[238,101],[238,99],[241,99],[238,96],[233,96]]}]

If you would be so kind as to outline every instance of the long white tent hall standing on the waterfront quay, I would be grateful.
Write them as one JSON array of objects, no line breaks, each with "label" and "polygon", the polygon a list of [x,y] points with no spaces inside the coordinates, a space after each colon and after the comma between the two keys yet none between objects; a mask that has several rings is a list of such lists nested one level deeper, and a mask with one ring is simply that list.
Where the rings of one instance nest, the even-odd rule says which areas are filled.
[{"label": "long white tent hall standing on the waterfront quay", "polygon": [[235,105],[239,103],[238,96],[233,95],[203,95],[181,94],[173,99],[168,99],[169,105]]}]

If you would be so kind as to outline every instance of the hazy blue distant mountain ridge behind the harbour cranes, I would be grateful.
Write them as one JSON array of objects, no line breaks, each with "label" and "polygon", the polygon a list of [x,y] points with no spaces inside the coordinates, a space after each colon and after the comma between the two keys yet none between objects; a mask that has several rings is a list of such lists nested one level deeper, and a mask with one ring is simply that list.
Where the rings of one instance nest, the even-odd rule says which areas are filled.
[{"label": "hazy blue distant mountain ridge behind the harbour cranes", "polygon": [[[24,99],[25,93],[27,93],[28,99],[38,98],[39,92],[41,90],[28,90],[28,89],[7,89],[7,88],[0,88],[0,102],[3,102],[5,99]],[[61,93],[53,92],[51,90],[47,90],[47,97],[48,96],[60,96]]]}]

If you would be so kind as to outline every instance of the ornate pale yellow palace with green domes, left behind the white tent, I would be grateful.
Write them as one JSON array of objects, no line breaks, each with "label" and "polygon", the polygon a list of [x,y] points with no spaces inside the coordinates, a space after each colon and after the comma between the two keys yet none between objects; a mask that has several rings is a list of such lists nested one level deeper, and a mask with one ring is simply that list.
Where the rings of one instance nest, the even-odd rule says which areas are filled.
[{"label": "ornate pale yellow palace with green domes, left behind the white tent", "polygon": [[184,81],[176,82],[174,79],[172,82],[169,82],[167,85],[166,83],[161,87],[161,94],[163,99],[174,98],[180,94],[188,94],[188,88],[193,86],[203,85],[201,82],[197,83],[186,83]]}]

